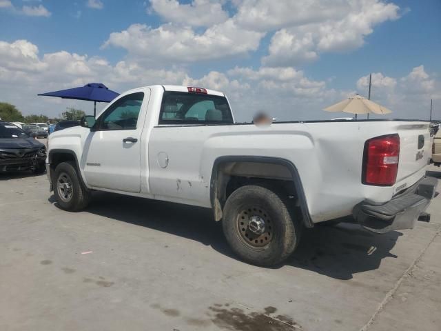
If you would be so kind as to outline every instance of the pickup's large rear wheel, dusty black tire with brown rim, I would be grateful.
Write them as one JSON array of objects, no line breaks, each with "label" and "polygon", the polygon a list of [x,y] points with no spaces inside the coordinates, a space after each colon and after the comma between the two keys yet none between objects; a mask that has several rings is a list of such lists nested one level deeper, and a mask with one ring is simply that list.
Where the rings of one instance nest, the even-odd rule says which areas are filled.
[{"label": "pickup's large rear wheel, dusty black tire with brown rim", "polygon": [[[263,234],[253,232],[255,226],[249,227],[256,217],[263,221],[263,228],[258,229],[265,229]],[[222,222],[225,238],[238,257],[266,267],[283,262],[294,252],[302,229],[275,190],[258,185],[243,186],[228,197]]]}]

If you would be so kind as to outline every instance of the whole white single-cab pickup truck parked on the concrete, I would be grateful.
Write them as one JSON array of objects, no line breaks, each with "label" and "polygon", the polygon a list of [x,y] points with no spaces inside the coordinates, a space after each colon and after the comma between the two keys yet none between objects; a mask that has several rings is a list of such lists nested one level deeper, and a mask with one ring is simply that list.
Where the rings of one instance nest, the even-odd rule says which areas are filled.
[{"label": "whole white single-cab pickup truck parked on the concrete", "polygon": [[147,86],[51,134],[46,162],[64,210],[92,190],[212,208],[241,259],[274,265],[319,222],[413,228],[435,195],[430,152],[424,121],[256,126],[235,123],[222,92]]}]

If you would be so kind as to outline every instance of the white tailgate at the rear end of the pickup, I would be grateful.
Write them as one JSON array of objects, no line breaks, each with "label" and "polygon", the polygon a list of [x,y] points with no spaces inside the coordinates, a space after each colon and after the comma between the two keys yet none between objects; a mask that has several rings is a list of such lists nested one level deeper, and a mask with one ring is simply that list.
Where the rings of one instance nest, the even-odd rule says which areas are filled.
[{"label": "white tailgate at the rear end of the pickup", "polygon": [[400,188],[408,188],[424,176],[425,167],[431,157],[431,146],[429,123],[402,123],[396,129],[400,135],[400,161],[396,181],[398,192]]}]

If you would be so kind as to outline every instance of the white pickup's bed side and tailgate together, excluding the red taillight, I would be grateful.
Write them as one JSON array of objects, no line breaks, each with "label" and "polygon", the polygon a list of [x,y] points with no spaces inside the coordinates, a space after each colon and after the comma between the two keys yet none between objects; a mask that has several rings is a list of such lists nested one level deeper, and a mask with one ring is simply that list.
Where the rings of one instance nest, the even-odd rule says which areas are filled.
[{"label": "white pickup's bed side and tailgate together, excluding the red taillight", "polygon": [[[218,157],[276,157],[296,166],[314,222],[344,217],[351,214],[360,201],[384,203],[393,197],[396,187],[411,185],[424,176],[423,161],[411,165],[410,153],[402,151],[400,159],[404,165],[403,169],[399,166],[396,185],[363,185],[361,178],[367,139],[398,133],[403,135],[407,149],[412,139],[403,132],[402,126],[421,126],[421,123],[332,121],[274,123],[267,128],[254,125],[156,127],[149,141],[150,187],[161,199],[210,207],[209,184]],[[416,130],[413,134],[420,132],[418,130],[422,134],[424,130],[428,132],[422,127],[409,130]],[[170,159],[166,171],[156,161],[161,152],[166,152]]]}]

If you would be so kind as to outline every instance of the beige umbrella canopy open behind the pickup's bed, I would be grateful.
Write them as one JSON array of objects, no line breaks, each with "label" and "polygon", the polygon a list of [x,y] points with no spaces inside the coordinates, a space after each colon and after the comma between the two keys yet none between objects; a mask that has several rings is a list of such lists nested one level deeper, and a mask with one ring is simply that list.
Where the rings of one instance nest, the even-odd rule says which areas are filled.
[{"label": "beige umbrella canopy open behind the pickup's bed", "polygon": [[335,105],[325,108],[327,112],[349,112],[349,114],[390,114],[392,111],[386,107],[380,106],[371,100],[362,97],[361,95],[354,95],[346,100],[340,101]]}]

